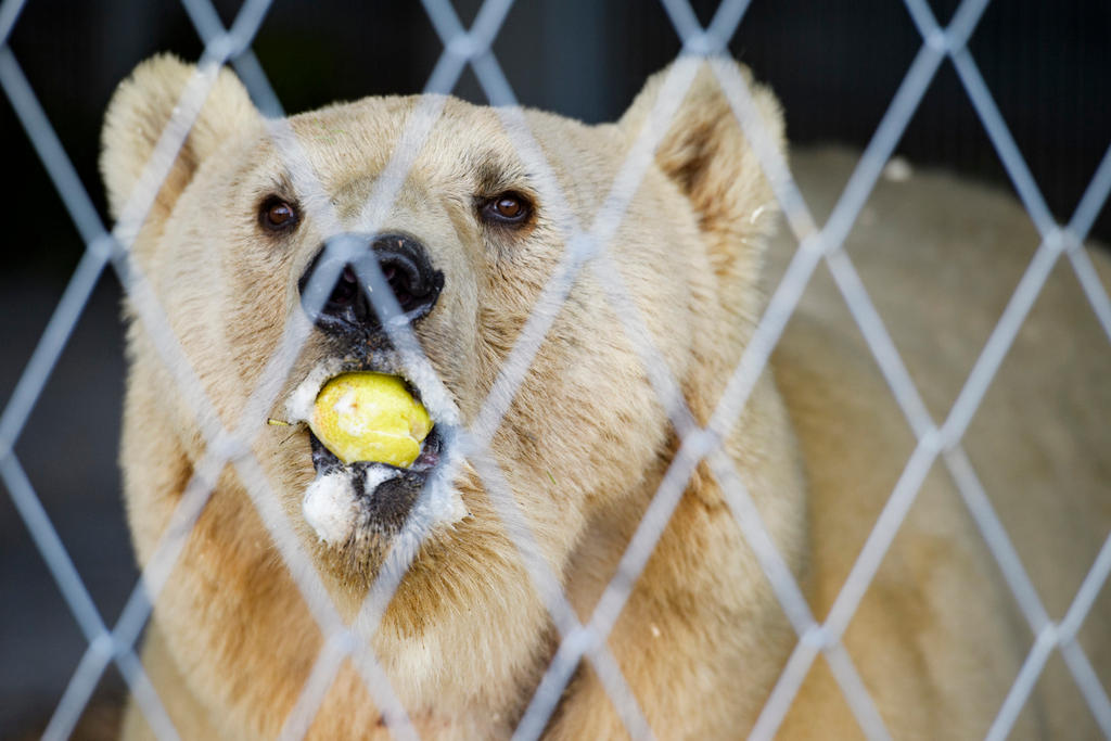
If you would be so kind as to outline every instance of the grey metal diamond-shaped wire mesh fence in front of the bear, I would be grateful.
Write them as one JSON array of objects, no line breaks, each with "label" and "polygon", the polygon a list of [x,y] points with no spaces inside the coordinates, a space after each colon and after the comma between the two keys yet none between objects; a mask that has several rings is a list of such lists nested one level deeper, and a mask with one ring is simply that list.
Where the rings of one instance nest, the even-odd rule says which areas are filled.
[{"label": "grey metal diamond-shaped wire mesh fence in front of the bear", "polygon": [[[391,732],[401,738],[417,738],[417,731],[406,709],[398,701],[389,680],[369,648],[369,637],[377,630],[382,613],[408,570],[416,547],[394,548],[391,551],[387,565],[369,590],[358,618],[352,624],[344,624],[293,534],[284,513],[277,508],[273,487],[250,450],[248,437],[250,420],[269,409],[277,398],[279,387],[306,340],[309,328],[303,322],[298,324],[294,321],[286,327],[282,343],[269,360],[257,388],[252,391],[247,412],[238,420],[238,424],[231,425],[237,420],[222,420],[213,410],[192,370],[190,359],[170,330],[158,297],[153,294],[144,276],[128,252],[151,208],[154,193],[169,172],[178,148],[188,136],[193,119],[211,90],[217,70],[228,61],[236,67],[260,109],[274,119],[269,124],[270,134],[287,168],[296,174],[299,190],[310,193],[321,192],[319,182],[316,181],[303,152],[300,151],[297,136],[288,124],[276,118],[281,113],[281,106],[250,50],[251,40],[264,20],[269,4],[267,0],[249,0],[241,8],[231,29],[226,31],[209,0],[183,0],[183,6],[204,42],[204,53],[198,64],[197,73],[179,100],[176,114],[148,162],[143,177],[140,178],[111,233],[101,224],[61,142],[36,100],[34,92],[23,77],[11,49],[7,46],[8,36],[18,20],[23,2],[8,0],[0,6],[0,41],[2,41],[0,83],[87,244],[81,262],[0,415],[0,478],[3,479],[20,515],[89,642],[89,648],[51,719],[47,730],[47,737],[50,738],[68,735],[110,661],[119,665],[137,704],[159,738],[176,738],[172,723],[150,684],[133,647],[150,615],[151,603],[157,600],[161,587],[170,578],[186,539],[207,503],[218,475],[227,464],[233,467],[244,483],[323,638],[318,660],[300,698],[284,721],[282,735],[288,738],[303,735],[342,661],[350,658],[376,703],[381,708]],[[516,97],[491,50],[493,40],[512,4],[512,0],[487,0],[471,29],[468,30],[460,23],[450,0],[424,1],[432,27],[443,43],[443,53],[426,86],[426,92],[450,92],[464,67],[470,64],[490,102],[501,107],[498,113],[502,126],[522,159],[538,173],[546,201],[556,206],[557,213],[563,214],[558,224],[567,244],[563,259],[552,272],[474,423],[470,429],[464,429],[457,422],[449,431],[479,472],[506,531],[513,539],[538,593],[543,598],[561,639],[554,658],[521,719],[516,738],[540,735],[570,680],[571,672],[582,658],[591,663],[601,679],[630,734],[634,738],[651,737],[651,729],[643,711],[610,653],[607,639],[637,578],[667,527],[671,512],[685,490],[688,480],[702,461],[708,463],[711,475],[724,492],[743,538],[755,553],[785,615],[799,635],[795,649],[760,714],[752,735],[768,738],[774,734],[810,665],[818,653],[822,653],[861,729],[870,738],[885,738],[883,721],[864,689],[851,658],[841,644],[841,635],[898,533],[927,471],[937,460],[943,462],[957,483],[961,497],[1035,635],[1030,654],[998,712],[989,731],[989,738],[1005,737],[1054,648],[1061,649],[1065,663],[1100,728],[1111,735],[1111,702],[1083,649],[1075,641],[1077,631],[1111,572],[1111,538],[1104,542],[1065,617],[1060,622],[1053,622],[1027,577],[999,517],[961,447],[964,431],[1060,256],[1065,254],[1069,258],[1100,323],[1111,338],[1111,301],[1108,300],[1093,266],[1081,249],[1095,216],[1111,190],[1111,150],[1100,163],[1072,219],[1068,224],[1057,224],[967,48],[967,42],[988,4],[987,0],[964,0],[952,21],[944,28],[938,24],[924,2],[905,0],[907,9],[922,36],[922,48],[832,214],[819,228],[790,170],[763,130],[745,81],[734,67],[715,61],[714,58],[714,54],[725,51],[729,40],[743,20],[748,2],[725,0],[710,24],[703,29],[685,0],[663,0],[662,4],[668,17],[683,42],[683,54],[680,63],[671,68],[648,122],[619,169],[605,207],[599,210],[600,216],[594,223],[584,227],[570,216],[571,211],[565,207],[565,197],[532,138],[524,117],[516,107]],[[659,351],[653,347],[651,334],[623,288],[618,266],[605,251],[607,243],[617,231],[637,186],[651,166],[657,144],[668,130],[679,103],[693,80],[695,66],[692,60],[700,59],[710,60],[711,69],[742,130],[752,143],[765,177],[772,184],[775,198],[787,216],[788,224],[799,240],[799,249],[787,273],[773,292],[735,372],[729,379],[725,391],[704,428],[698,425],[687,408],[675,379],[670,375]],[[842,243],[919,101],[940,64],[947,59],[953,63],[977,114],[983,122],[1000,160],[1042,238],[1042,243],[948,417],[941,425],[938,425],[925,410],[882,318],[872,304],[852,261],[842,249]],[[413,116],[413,123],[392,153],[389,164],[378,179],[374,192],[363,208],[360,224],[366,231],[373,233],[374,227],[379,226],[388,214],[399,188],[404,182],[409,166],[431,132],[441,107],[442,99],[427,98],[418,113]],[[323,202],[327,203],[327,199],[323,199]],[[327,210],[314,216],[321,218],[324,223],[338,224],[336,214]],[[333,231],[339,233],[340,230]],[[330,253],[339,257],[348,254],[346,249],[350,248],[344,246],[342,240],[333,240],[327,248]],[[832,274],[899,408],[905,415],[917,440],[917,447],[829,615],[819,623],[811,614],[798,583],[761,522],[739,471],[722,452],[720,443],[744,409],[749,392],[764,370],[770,353],[810,277],[822,261]],[[342,261],[339,264],[341,263]],[[64,544],[42,509],[14,453],[14,443],[42,387],[64,348],[92,287],[109,264],[117,271],[141,323],[171,370],[178,391],[190,401],[197,413],[197,423],[208,442],[206,455],[197,465],[193,478],[187,485],[154,555],[144,567],[127,607],[111,630],[107,628],[93,605]],[[339,267],[330,271],[317,270],[311,283],[318,289],[331,286],[338,276],[338,270]],[[364,282],[372,288],[387,288],[377,266],[372,264],[362,270],[364,274],[361,278]],[[539,548],[529,528],[528,517],[517,504],[503,473],[489,454],[487,447],[524,379],[562,301],[578,276],[584,270],[604,278],[601,283],[608,287],[605,298],[617,309],[617,314],[623,318],[623,329],[632,340],[644,372],[668,411],[681,444],[630,541],[615,575],[605,588],[591,618],[582,624],[574,615],[551,567],[538,555]],[[310,289],[309,293],[311,292]],[[318,293],[323,294],[327,291],[318,290]],[[372,290],[370,297],[376,310],[383,317],[399,313],[399,308],[389,290]],[[408,327],[387,324],[391,340],[401,351],[407,367],[430,368]],[[423,535],[422,531],[414,533],[416,544],[419,544]]]}]

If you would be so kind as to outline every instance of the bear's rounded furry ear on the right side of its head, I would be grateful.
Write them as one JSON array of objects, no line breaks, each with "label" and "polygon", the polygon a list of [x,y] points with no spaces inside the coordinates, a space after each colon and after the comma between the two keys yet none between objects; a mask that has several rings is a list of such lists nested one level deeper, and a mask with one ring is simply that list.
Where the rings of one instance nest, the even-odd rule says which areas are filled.
[{"label": "bear's rounded furry ear on the right side of its head", "polygon": [[707,247],[722,289],[754,284],[763,242],[775,224],[779,208],[760,161],[741,130],[710,64],[739,70],[763,122],[767,141],[783,151],[783,116],[774,96],[752,80],[752,73],[728,59],[705,62],[682,58],[657,72],[618,123],[635,138],[648,122],[675,64],[688,64],[694,80],[679,104],[655,150],[655,162],[690,199],[707,237]]}]

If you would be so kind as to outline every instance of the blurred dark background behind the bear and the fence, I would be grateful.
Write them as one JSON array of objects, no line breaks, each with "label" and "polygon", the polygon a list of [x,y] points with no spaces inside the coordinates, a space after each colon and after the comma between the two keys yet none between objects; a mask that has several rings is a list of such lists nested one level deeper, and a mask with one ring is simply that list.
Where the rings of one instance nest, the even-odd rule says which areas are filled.
[{"label": "blurred dark background behind the bear and the fence", "polygon": [[[456,3],[469,26],[479,2]],[[226,24],[238,2],[216,3]],[[693,3],[703,22],[713,0]],[[944,23],[955,0],[933,0]],[[999,0],[970,48],[1059,220],[1068,220],[1111,143],[1111,3]],[[16,58],[97,207],[103,109],[114,86],[158,51],[197,59],[201,42],[172,0],[30,0],[10,39]],[[620,116],[644,78],[680,50],[654,0],[519,0],[494,53],[519,100],[588,121]],[[895,0],[755,2],[730,49],[774,89],[795,144],[867,144],[921,39]],[[337,99],[413,93],[441,44],[420,3],[277,2],[253,48],[287,111]],[[460,97],[482,102],[473,74]],[[0,403],[12,388],[83,244],[11,107],[0,103],[16,212],[0,268]],[[1010,188],[951,64],[943,63],[898,152]],[[11,204],[12,197],[6,197]],[[106,223],[107,223],[107,217]],[[1104,208],[1094,229],[1111,237]],[[136,571],[116,470],[122,390],[119,288],[92,297],[17,453],[106,621]],[[0,495],[0,737],[49,713],[84,642],[7,495]],[[104,687],[118,685],[109,672]],[[22,719],[22,720],[21,720]]]}]

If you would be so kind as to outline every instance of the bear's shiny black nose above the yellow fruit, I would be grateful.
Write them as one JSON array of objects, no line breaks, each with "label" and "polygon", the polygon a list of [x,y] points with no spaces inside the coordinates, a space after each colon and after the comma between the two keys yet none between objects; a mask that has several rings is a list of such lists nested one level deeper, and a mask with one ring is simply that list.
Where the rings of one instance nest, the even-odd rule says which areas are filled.
[{"label": "bear's shiny black nose above the yellow fruit", "polygon": [[[342,333],[381,329],[392,308],[384,301],[376,307],[370,299],[374,282],[371,260],[378,262],[384,284],[407,320],[423,317],[440,298],[443,273],[432,268],[424,246],[412,237],[380,234],[368,239],[344,234],[334,241],[334,256],[326,258],[328,250],[322,247],[298,281],[301,306],[321,329]],[[339,254],[343,257],[336,257]],[[340,260],[342,268],[330,286],[326,280],[312,280],[318,271],[324,278],[336,270]]]}]

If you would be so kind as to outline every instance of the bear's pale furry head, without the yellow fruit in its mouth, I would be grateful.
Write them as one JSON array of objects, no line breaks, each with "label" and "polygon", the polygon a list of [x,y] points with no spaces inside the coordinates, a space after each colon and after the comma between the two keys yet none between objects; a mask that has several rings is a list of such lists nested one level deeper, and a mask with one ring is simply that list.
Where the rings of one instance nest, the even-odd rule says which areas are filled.
[{"label": "bear's pale furry head, without the yellow fruit in its mouth", "polygon": [[[137,69],[102,171],[127,219],[169,164],[131,249],[144,288],[128,307],[123,463],[140,554],[161,528],[139,520],[153,508],[163,524],[188,480],[166,471],[194,472],[212,430],[247,441],[261,482],[226,471],[200,527],[253,547],[252,490],[352,593],[399,542],[421,542],[413,573],[440,592],[517,569],[491,482],[557,572],[598,512],[654,490],[677,449],[667,395],[707,421],[760,306],[777,212],[711,69],[678,63],[693,80],[681,99],[660,96],[661,73],[602,126],[439,97],[267,121],[228,71]],[[211,91],[167,148],[189,84]],[[773,98],[751,90],[780,147]],[[371,301],[374,286],[393,301]],[[366,370],[401,377],[430,412],[408,468],[343,464],[300,424],[328,379]],[[303,500],[328,477],[313,520]]]}]

